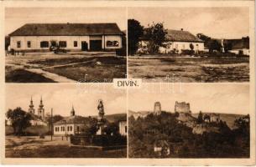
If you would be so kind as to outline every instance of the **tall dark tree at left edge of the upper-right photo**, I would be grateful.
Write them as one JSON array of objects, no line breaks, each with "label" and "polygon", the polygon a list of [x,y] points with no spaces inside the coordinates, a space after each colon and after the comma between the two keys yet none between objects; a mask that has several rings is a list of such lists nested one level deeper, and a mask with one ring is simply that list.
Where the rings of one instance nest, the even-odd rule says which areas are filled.
[{"label": "tall dark tree at left edge of the upper-right photo", "polygon": [[144,28],[137,20],[128,19],[128,54],[133,55],[138,49],[138,41],[144,34]]}]

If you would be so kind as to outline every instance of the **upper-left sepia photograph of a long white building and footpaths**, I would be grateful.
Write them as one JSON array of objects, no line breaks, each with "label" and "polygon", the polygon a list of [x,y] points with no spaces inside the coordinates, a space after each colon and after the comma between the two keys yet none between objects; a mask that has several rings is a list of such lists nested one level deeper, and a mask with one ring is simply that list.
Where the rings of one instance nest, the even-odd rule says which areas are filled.
[{"label": "upper-left sepia photograph of a long white building and footpaths", "polygon": [[4,25],[7,83],[125,78],[125,8],[5,8]]}]

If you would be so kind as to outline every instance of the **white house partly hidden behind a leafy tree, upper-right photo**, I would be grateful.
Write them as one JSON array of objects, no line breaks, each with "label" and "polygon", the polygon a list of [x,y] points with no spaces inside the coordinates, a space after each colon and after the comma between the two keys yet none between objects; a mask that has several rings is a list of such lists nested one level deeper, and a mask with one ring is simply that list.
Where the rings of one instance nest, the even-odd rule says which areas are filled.
[{"label": "white house partly hidden behind a leafy tree, upper-right photo", "polygon": [[[198,53],[204,51],[204,42],[188,31],[168,29],[166,40],[159,47],[159,53],[182,53],[182,50],[193,50]],[[149,44],[148,38],[141,38],[138,43],[138,53],[147,53]]]}]

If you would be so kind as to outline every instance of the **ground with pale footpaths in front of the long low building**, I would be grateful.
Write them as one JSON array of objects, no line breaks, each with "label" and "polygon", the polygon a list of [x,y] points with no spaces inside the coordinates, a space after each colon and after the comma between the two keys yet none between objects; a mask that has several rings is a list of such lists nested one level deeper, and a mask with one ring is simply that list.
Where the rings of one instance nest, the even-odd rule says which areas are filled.
[{"label": "ground with pale footpaths in front of the long low building", "polygon": [[[109,60],[109,61],[108,61]],[[103,61],[103,62],[102,62]],[[112,80],[124,76],[126,60],[115,53],[26,53],[6,57],[7,82],[57,82],[74,83],[90,76],[91,80]],[[112,67],[114,65],[114,67]],[[114,73],[115,67],[121,68]],[[103,76],[94,75],[93,68],[104,71]],[[101,72],[99,72],[101,73]],[[98,78],[94,78],[97,76]]]}]

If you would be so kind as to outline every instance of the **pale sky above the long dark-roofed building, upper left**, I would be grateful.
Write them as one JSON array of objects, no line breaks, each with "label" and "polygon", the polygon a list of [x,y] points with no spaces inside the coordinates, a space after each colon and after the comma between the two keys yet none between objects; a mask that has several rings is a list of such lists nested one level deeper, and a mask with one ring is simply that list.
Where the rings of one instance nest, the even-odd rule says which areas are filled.
[{"label": "pale sky above the long dark-roofed building, upper left", "polygon": [[127,29],[126,8],[6,8],[5,35],[25,23],[117,23]]}]

